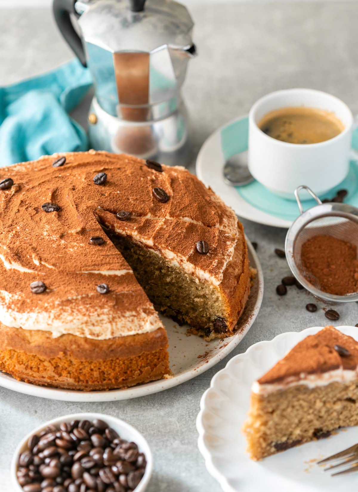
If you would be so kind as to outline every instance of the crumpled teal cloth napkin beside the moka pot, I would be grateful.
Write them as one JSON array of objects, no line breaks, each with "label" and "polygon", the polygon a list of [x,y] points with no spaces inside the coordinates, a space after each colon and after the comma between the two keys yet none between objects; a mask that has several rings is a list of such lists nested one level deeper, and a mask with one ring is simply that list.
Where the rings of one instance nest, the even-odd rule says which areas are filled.
[{"label": "crumpled teal cloth napkin beside the moka pot", "polygon": [[74,59],[38,77],[0,87],[0,167],[55,152],[85,151],[85,130],[69,117],[92,86]]}]

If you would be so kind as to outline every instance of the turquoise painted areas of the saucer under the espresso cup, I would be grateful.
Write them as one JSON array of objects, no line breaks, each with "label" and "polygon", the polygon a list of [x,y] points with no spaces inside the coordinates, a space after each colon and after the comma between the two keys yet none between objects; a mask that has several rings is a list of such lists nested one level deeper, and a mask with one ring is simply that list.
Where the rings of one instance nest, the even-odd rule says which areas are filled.
[{"label": "turquoise painted areas of the saucer under the espresso cup", "polygon": [[[247,151],[248,134],[249,119],[247,117],[229,123],[221,129],[221,147],[225,161],[234,154]],[[353,132],[352,148],[358,150],[358,129]],[[271,191],[256,180],[245,186],[237,186],[235,189],[247,203],[266,214],[290,221],[295,220],[298,215],[297,204],[294,200],[287,200],[286,198],[271,193]],[[325,198],[331,199],[340,189],[346,189],[348,191],[348,195],[345,197],[344,202],[358,207],[357,161],[351,160],[349,172],[345,180],[320,196],[320,198],[322,200]],[[313,199],[305,200],[303,202],[305,210],[315,205],[316,202]]]}]

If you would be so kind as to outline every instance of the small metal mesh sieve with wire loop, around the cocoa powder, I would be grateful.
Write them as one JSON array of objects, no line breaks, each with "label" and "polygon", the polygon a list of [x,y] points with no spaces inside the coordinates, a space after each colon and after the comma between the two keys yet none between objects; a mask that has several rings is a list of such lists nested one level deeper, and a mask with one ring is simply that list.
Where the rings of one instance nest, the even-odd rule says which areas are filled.
[{"label": "small metal mesh sieve with wire loop, around the cocoa powder", "polygon": [[[299,192],[306,190],[318,205],[303,212]],[[304,277],[304,268],[301,262],[302,245],[313,236],[331,236],[357,246],[358,250],[358,209],[352,205],[343,203],[322,203],[321,200],[308,186],[298,186],[294,195],[297,200],[300,214],[291,225],[286,235],[286,258],[289,267],[296,279],[305,289],[316,297],[334,304],[357,302],[358,292],[344,296],[329,294],[320,289],[320,284],[315,277],[310,276],[310,281]],[[306,273],[307,275],[307,273]],[[337,272],[339,275],[339,272]]]}]

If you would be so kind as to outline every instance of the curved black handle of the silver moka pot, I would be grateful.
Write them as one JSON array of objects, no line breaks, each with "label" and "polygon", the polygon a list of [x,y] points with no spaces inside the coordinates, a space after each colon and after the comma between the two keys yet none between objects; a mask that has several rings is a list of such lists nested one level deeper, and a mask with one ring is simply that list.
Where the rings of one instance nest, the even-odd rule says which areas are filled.
[{"label": "curved black handle of the silver moka pot", "polygon": [[85,51],[82,41],[77,32],[74,30],[70,18],[70,14],[78,17],[75,11],[74,4],[76,0],[53,0],[52,9],[55,16],[56,24],[64,36],[65,41],[72,49],[83,66],[87,66]]}]

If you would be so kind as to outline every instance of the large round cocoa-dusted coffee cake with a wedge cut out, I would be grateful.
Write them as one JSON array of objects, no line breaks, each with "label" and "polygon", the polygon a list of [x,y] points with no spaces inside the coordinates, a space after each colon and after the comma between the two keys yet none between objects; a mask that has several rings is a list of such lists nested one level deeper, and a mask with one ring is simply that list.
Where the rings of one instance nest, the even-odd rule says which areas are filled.
[{"label": "large round cocoa-dusted coffee cake with a wedge cut out", "polygon": [[89,151],[0,178],[1,370],[86,391],[159,379],[157,310],[232,335],[250,291],[242,225],[187,170]]}]

